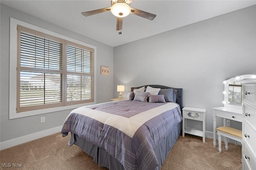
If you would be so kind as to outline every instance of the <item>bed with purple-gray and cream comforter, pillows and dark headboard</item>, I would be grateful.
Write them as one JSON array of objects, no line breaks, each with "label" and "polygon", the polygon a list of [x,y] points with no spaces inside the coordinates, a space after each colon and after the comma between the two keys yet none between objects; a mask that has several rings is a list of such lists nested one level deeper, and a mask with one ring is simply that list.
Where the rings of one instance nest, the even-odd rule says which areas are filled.
[{"label": "bed with purple-gray and cream comforter, pillows and dark headboard", "polygon": [[[160,170],[182,129],[183,89],[145,85],[129,94],[133,100],[74,109],[64,121],[62,136],[70,132],[68,145],[79,146],[100,167]],[[150,97],[145,101],[146,94]]]}]

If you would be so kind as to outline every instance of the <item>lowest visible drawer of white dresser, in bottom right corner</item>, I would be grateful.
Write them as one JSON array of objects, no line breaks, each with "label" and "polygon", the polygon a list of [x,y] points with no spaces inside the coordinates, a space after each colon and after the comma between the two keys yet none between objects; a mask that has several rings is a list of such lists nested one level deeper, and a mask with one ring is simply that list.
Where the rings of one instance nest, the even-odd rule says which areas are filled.
[{"label": "lowest visible drawer of white dresser, in bottom right corner", "polygon": [[244,142],[244,153],[243,160],[245,164],[248,164],[249,167],[254,170],[256,168],[256,156],[251,152],[246,142]]}]

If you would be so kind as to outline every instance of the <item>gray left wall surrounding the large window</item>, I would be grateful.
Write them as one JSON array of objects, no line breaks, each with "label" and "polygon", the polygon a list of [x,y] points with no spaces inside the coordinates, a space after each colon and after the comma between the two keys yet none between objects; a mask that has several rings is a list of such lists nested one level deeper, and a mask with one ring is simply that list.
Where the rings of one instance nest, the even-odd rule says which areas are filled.
[{"label": "gray left wall surrounding the large window", "polygon": [[[1,4],[1,58],[0,58],[0,142],[8,141],[32,133],[44,131],[61,126],[71,110],[46,113],[9,120],[9,46],[10,46],[10,17],[21,20],[44,29],[77,39],[94,45],[97,48],[96,56],[96,102],[108,102],[113,98],[113,47],[100,43],[88,37],[84,37],[52,23],[46,22],[34,16],[30,16],[14,8]],[[86,30],[85,30],[86,31]],[[110,75],[100,74],[100,66],[108,66]],[[16,106],[13,106],[16,107]],[[45,116],[46,122],[40,123],[40,117]]]}]

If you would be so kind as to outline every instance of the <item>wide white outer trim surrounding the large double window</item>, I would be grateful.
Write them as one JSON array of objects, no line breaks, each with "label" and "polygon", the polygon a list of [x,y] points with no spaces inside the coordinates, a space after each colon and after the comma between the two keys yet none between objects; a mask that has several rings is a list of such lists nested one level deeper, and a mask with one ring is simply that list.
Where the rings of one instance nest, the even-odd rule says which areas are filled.
[{"label": "wide white outer trim surrounding the large double window", "polygon": [[[84,45],[86,47],[90,47],[94,49],[94,102],[84,103],[84,104],[76,104],[70,106],[62,106],[62,107],[54,107],[48,109],[40,109],[33,111],[24,111],[17,113],[16,112],[16,99],[17,99],[17,25],[21,25],[23,27],[27,27],[30,29],[34,29],[35,31],[40,31],[42,33],[46,33],[48,35],[52,35],[54,37],[58,37],[61,39],[65,39],[67,41],[71,41],[73,43],[77,43],[80,45]],[[43,29],[37,27],[35,25],[16,20],[14,18],[10,18],[10,75],[9,75],[9,119],[16,119],[20,117],[27,117],[32,115],[39,115],[44,113],[51,113],[55,111],[63,111],[68,109],[74,109],[81,106],[87,106],[91,104],[96,104],[96,47],[82,41],[78,41],[76,39],[72,39],[70,37],[66,37],[64,35],[49,31],[47,29]]]}]

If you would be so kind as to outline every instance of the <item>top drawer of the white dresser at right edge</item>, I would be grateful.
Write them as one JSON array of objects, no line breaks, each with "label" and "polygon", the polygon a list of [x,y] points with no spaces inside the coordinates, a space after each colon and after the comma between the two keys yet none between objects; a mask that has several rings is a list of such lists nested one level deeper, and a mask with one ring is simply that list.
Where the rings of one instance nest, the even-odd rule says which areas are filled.
[{"label": "top drawer of the white dresser at right edge", "polygon": [[243,101],[256,106],[255,84],[244,84],[243,86]]}]

